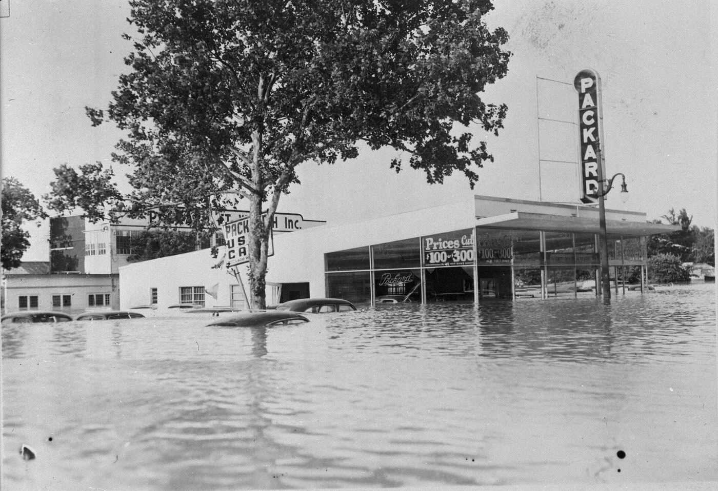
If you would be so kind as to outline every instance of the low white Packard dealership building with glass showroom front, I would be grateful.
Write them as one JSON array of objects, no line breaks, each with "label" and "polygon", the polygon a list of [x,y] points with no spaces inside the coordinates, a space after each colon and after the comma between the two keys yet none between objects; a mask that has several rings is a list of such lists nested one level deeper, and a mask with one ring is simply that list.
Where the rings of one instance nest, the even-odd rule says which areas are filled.
[{"label": "low white Packard dealership building with glass showroom front", "polygon": [[[611,276],[632,268],[640,276],[633,288],[643,291],[646,237],[677,228],[647,223],[640,212],[606,210],[606,217]],[[304,228],[274,235],[266,299],[329,296],[369,304],[595,295],[599,233],[594,207],[486,196]],[[226,267],[237,256],[231,246],[230,240],[217,258],[203,250],[122,266],[121,308],[245,307],[248,264]]]}]

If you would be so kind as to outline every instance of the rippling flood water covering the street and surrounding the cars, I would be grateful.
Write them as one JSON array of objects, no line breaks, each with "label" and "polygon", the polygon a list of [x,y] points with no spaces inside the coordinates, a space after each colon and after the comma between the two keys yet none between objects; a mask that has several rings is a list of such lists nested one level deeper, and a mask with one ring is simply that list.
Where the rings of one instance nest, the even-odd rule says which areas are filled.
[{"label": "rippling flood water covering the street and surrounding the cars", "polygon": [[4,325],[3,489],[718,480],[712,284],[211,320]]}]

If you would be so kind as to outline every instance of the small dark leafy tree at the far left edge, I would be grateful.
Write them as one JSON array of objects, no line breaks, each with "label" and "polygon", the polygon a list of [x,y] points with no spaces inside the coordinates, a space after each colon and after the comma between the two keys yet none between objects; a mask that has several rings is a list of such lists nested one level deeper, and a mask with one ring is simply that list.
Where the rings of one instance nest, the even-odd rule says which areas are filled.
[{"label": "small dark leafy tree at the far left edge", "polygon": [[[17,268],[30,246],[26,222],[47,218],[32,192],[14,177],[2,179],[2,267]],[[39,225],[39,224],[38,224]]]}]

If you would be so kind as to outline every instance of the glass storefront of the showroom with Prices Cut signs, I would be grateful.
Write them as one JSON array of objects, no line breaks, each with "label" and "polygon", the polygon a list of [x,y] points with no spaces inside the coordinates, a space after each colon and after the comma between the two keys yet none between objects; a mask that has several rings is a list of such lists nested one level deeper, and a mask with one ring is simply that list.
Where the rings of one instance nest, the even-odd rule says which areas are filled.
[{"label": "glass storefront of the showroom with Prices Cut signs", "polygon": [[[642,277],[645,238],[608,243],[612,280]],[[327,253],[325,268],[327,296],[355,303],[547,299],[596,295],[600,256],[593,233],[477,227]]]}]

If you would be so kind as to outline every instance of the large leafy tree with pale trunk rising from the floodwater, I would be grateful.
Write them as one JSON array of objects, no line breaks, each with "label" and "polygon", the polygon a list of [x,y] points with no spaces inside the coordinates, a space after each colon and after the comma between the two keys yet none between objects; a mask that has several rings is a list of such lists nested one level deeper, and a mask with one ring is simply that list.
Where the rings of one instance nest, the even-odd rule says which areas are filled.
[{"label": "large leafy tree with pale trunk rising from the floodwater", "polygon": [[[166,222],[248,202],[251,302],[264,307],[269,227],[304,162],[332,164],[391,146],[441,183],[470,185],[493,161],[467,128],[498,134],[506,106],[479,93],[507,72],[504,29],[490,0],[133,0],[139,36],[106,112],[93,124],[127,131],[116,162],[134,192],[122,212],[150,207]],[[464,126],[464,130],[460,129]],[[98,210],[99,204],[90,211]]]}]

